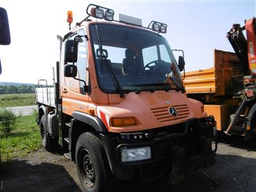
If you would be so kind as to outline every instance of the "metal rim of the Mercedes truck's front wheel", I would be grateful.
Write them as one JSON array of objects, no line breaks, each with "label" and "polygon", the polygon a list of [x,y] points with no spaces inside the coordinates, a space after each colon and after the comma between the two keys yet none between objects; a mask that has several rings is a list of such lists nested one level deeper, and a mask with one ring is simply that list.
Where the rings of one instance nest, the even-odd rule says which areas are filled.
[{"label": "metal rim of the Mercedes truck's front wheel", "polygon": [[84,183],[89,187],[93,188],[95,184],[95,170],[92,162],[92,156],[85,148],[80,150],[79,157],[79,168],[83,176]]}]

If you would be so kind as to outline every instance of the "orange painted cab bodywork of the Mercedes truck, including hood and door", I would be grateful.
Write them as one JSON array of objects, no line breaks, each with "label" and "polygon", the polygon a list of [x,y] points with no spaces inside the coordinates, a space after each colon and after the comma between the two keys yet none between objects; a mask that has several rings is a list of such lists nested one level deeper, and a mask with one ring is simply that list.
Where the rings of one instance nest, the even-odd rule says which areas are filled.
[{"label": "orange painted cab bodywork of the Mercedes truck, including hood and door", "polygon": [[[85,26],[80,26],[85,31],[88,25],[94,22],[88,22]],[[122,25],[122,24],[120,24]],[[131,26],[131,28],[137,28]],[[75,29],[74,29],[75,30]],[[77,29],[76,29],[77,30]],[[182,92],[175,90],[141,92],[136,94],[130,92],[120,98],[120,94],[108,94],[100,90],[97,81],[97,72],[95,70],[95,61],[93,60],[92,42],[90,33],[87,30],[87,67],[86,83],[90,81],[91,92],[83,95],[79,89],[79,81],[72,77],[61,76],[60,93],[62,97],[63,113],[72,115],[74,111],[81,111],[90,115],[98,116],[106,125],[109,132],[132,132],[147,129],[155,129],[168,125],[180,124],[190,118],[203,118],[206,113],[202,111],[202,102],[188,99]],[[62,50],[62,57],[64,50]],[[61,63],[61,74],[66,63]],[[89,79],[90,74],[90,79]],[[78,77],[77,77],[78,78]],[[178,115],[170,115],[169,108],[177,110]],[[111,124],[112,118],[132,118],[135,125],[126,125],[115,127]]]}]

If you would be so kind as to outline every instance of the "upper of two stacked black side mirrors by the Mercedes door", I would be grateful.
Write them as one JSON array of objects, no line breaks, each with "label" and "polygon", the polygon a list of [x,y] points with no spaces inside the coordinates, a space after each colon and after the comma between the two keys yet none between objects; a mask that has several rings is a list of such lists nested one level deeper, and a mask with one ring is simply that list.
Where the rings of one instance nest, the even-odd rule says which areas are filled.
[{"label": "upper of two stacked black side mirrors by the Mercedes door", "polygon": [[76,63],[77,61],[77,41],[67,40],[65,42],[64,61],[68,63]]}]

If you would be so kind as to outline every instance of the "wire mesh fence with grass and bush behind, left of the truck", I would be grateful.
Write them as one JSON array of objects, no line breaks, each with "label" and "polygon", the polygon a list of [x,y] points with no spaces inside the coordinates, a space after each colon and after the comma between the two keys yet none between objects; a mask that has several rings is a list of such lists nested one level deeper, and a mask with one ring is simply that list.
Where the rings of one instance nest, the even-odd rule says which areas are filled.
[{"label": "wire mesh fence with grass and bush behind, left of the truck", "polygon": [[0,83],[0,163],[40,148],[35,86]]}]

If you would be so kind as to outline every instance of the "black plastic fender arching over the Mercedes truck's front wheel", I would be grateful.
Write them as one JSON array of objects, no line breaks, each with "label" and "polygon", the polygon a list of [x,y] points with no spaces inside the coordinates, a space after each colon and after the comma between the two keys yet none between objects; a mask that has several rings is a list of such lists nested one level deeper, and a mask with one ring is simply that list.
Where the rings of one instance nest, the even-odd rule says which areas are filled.
[{"label": "black plastic fender arching over the Mercedes truck's front wheel", "polygon": [[88,125],[91,125],[97,132],[108,132],[108,129],[106,128],[102,120],[97,116],[89,115],[87,113],[82,113],[79,111],[74,111],[72,113],[72,116],[75,120],[79,120]]}]

